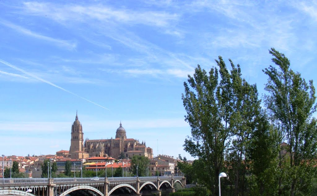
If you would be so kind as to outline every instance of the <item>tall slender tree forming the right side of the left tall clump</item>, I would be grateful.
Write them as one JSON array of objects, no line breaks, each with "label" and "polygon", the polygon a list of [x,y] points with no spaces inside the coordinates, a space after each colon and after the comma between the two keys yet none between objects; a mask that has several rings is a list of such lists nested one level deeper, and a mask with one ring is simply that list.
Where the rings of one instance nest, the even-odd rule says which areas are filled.
[{"label": "tall slender tree forming the right side of the left tall clump", "polygon": [[[241,77],[241,69],[238,64],[235,66],[231,60],[230,74],[225,68],[221,68],[223,72],[223,80],[226,90],[230,93],[229,102],[231,104],[231,145],[228,148],[229,156],[227,156],[227,166],[232,171],[230,181],[234,185],[234,195],[248,194],[247,176],[249,176],[250,160],[247,156],[251,135],[256,129],[256,123],[260,114],[260,103],[258,100],[258,92],[256,85],[250,85]],[[222,64],[221,61],[218,64]],[[223,71],[221,71],[223,69]],[[222,83],[220,82],[220,85]]]}]

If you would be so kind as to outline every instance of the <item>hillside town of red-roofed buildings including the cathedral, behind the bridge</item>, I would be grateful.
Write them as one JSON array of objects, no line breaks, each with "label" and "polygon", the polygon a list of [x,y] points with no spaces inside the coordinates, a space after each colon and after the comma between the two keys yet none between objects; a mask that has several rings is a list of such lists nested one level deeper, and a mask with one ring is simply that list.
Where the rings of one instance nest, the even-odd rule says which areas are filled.
[{"label": "hillside town of red-roofed buildings including the cathedral, behind the bridge", "polygon": [[[159,154],[153,157],[153,150],[146,147],[146,142],[127,138],[126,130],[120,127],[116,131],[115,139],[108,140],[89,140],[84,141],[83,128],[78,120],[76,112],[75,121],[71,127],[71,142],[69,150],[60,150],[55,154],[47,155],[28,155],[23,156],[5,156],[0,157],[0,178],[3,178],[4,169],[12,168],[13,162],[18,163],[20,173],[25,173],[29,178],[41,178],[43,167],[48,168],[56,162],[56,175],[65,174],[65,165],[67,161],[71,162],[71,172],[82,171],[105,171],[106,169],[115,170],[124,168],[126,175],[131,171],[131,158],[135,155],[145,156],[150,160],[147,173],[149,176],[171,176],[178,174],[177,163],[180,161],[174,156]],[[44,166],[44,161],[49,160],[50,166]],[[11,171],[11,170],[10,170]]]}]

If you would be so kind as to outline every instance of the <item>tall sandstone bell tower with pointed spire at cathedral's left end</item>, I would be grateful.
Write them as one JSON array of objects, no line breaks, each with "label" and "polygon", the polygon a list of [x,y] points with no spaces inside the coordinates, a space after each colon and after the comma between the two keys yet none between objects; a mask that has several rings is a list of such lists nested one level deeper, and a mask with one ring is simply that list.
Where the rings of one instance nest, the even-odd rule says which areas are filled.
[{"label": "tall sandstone bell tower with pointed spire at cathedral's left end", "polygon": [[69,153],[75,151],[84,151],[84,133],[82,132],[82,126],[78,120],[77,111],[76,118],[72,125],[72,138],[70,140],[70,149]]}]

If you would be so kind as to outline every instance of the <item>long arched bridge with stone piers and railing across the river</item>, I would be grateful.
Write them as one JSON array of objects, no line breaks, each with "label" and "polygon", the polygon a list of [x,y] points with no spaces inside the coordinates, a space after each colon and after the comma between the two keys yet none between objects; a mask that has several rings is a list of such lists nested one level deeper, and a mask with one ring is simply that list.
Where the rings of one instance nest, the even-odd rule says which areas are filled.
[{"label": "long arched bridge with stone piers and railing across the river", "polygon": [[0,179],[0,195],[116,196],[128,194],[160,196],[162,192],[175,192],[176,183],[185,186],[186,179],[184,176],[117,177],[99,178],[99,180],[92,178],[7,178]]}]

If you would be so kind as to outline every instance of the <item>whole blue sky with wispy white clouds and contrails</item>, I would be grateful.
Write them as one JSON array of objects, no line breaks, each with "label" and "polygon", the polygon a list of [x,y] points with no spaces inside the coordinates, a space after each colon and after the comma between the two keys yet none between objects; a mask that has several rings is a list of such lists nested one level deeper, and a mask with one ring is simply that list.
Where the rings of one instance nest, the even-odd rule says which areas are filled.
[{"label": "whole blue sky with wispy white clouds and contrails", "polygon": [[155,156],[188,157],[181,94],[197,64],[230,58],[262,94],[274,47],[315,83],[316,27],[316,1],[2,0],[0,152],[68,150],[78,110],[85,138],[121,120]]}]

